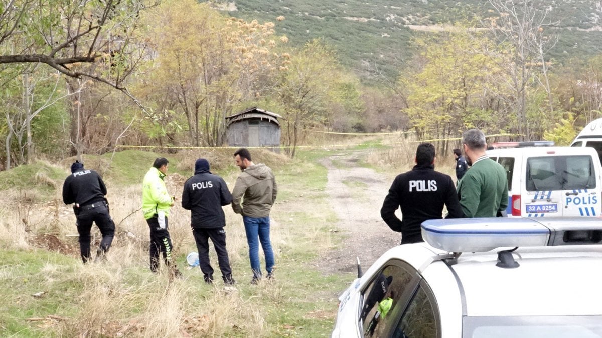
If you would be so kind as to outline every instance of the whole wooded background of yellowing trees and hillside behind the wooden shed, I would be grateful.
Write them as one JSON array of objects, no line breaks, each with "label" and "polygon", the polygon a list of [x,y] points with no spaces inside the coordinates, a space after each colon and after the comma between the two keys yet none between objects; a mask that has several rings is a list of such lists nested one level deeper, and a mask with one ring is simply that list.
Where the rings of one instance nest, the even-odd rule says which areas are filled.
[{"label": "whole wooded background of yellowing trees and hillside behind the wooden shed", "polygon": [[0,2],[0,162],[227,146],[226,117],[567,144],[602,111],[600,1]]}]

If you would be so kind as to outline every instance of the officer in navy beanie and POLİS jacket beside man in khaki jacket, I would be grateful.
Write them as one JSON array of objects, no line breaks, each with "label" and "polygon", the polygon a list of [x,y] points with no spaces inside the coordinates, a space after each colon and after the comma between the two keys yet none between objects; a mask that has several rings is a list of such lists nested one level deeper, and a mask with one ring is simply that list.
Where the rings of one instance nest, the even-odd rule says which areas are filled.
[{"label": "officer in navy beanie and POL\u0130S jacket beside man in khaki jacket", "polygon": [[216,249],[217,262],[225,284],[235,283],[226,251],[226,217],[222,206],[232,203],[226,182],[209,171],[209,162],[200,158],[194,164],[194,176],[184,183],[182,207],[191,210],[190,226],[199,251],[199,266],[205,283],[213,283],[213,268],[209,263],[209,238]]}]

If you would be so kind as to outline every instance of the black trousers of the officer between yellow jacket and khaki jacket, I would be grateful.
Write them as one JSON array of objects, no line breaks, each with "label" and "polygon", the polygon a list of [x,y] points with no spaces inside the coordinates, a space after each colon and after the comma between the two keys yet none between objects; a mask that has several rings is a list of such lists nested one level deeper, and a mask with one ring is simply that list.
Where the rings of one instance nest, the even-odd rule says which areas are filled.
[{"label": "black trousers of the officer between yellow jacket and khaki jacket", "polygon": [[231,283],[232,269],[230,268],[230,260],[228,259],[228,251],[226,251],[226,230],[218,229],[192,229],[194,242],[199,251],[199,267],[203,272],[203,278],[206,282],[213,281],[213,268],[209,263],[209,238],[213,242],[213,247],[217,253],[217,263],[222,272],[222,279],[225,283]]}]

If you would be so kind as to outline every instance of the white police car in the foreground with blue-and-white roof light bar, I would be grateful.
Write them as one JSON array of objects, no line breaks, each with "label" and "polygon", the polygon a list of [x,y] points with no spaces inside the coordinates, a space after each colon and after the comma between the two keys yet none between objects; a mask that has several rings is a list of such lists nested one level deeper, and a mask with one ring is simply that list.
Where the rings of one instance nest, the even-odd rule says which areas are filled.
[{"label": "white police car in the foreground with blue-and-white roof light bar", "polygon": [[332,337],[602,337],[601,218],[422,229],[427,243],[387,251],[341,295]]}]

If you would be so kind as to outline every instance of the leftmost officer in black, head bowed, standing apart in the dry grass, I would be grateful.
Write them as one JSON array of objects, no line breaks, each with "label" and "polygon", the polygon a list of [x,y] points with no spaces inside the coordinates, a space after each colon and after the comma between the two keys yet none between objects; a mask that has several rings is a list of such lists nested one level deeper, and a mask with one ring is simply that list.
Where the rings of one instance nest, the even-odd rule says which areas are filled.
[{"label": "leftmost officer in black, head bowed, standing apart in the dry grass", "polygon": [[90,229],[92,222],[102,233],[100,248],[96,251],[96,260],[101,260],[107,253],[115,235],[115,223],[109,215],[107,203],[107,187],[101,176],[94,170],[84,169],[84,164],[75,161],[71,165],[71,173],[63,183],[63,202],[75,203],[77,231],[79,233],[79,251],[81,259],[90,260]]}]

